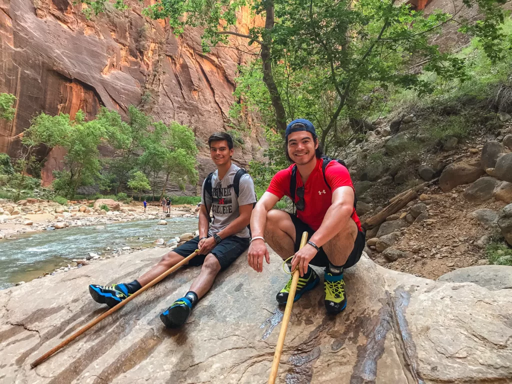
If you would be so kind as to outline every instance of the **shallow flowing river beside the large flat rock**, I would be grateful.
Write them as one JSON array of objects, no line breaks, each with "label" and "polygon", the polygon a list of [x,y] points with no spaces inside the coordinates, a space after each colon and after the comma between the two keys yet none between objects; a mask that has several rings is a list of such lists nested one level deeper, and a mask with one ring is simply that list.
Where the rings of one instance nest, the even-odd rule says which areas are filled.
[{"label": "shallow flowing river beside the large flat rock", "polygon": [[122,247],[149,247],[156,239],[168,241],[198,228],[196,218],[142,220],[45,231],[14,240],[0,240],[0,289],[30,281],[44,272],[83,259],[89,252],[104,253]]}]

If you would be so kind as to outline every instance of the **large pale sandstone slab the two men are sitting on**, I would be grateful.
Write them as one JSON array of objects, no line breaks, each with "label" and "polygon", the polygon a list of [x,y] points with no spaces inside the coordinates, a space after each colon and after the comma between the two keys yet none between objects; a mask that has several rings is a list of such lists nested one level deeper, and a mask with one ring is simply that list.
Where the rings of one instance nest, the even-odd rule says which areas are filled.
[{"label": "large pale sandstone slab the two men are sitting on", "polygon": [[[130,281],[161,249],[132,253],[0,292],[0,381],[18,383],[266,382],[287,275],[275,254],[257,274],[242,255],[181,331],[158,319],[199,273],[185,268],[143,293],[36,369],[29,363],[105,309],[90,283]],[[346,272],[348,308],[325,314],[317,287],[292,311],[277,382],[512,381],[512,298],[381,268]]]}]

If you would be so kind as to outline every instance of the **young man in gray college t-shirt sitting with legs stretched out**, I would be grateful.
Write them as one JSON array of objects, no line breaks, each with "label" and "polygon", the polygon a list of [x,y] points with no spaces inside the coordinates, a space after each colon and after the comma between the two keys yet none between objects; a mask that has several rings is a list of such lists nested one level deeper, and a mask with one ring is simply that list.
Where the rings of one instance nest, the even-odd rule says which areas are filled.
[{"label": "young man in gray college t-shirt sitting with legs stretched out", "polygon": [[[217,274],[247,249],[250,237],[248,224],[256,202],[254,184],[243,169],[231,162],[231,136],[227,133],[213,134],[208,139],[208,145],[217,170],[203,182],[199,236],[166,253],[155,267],[131,283],[90,285],[89,292],[96,302],[115,306],[199,249],[199,254],[188,263],[191,266],[202,265],[199,276],[185,296],[160,315],[166,327],[179,327],[186,322],[198,300],[211,288]],[[211,224],[210,209],[214,217]]]}]

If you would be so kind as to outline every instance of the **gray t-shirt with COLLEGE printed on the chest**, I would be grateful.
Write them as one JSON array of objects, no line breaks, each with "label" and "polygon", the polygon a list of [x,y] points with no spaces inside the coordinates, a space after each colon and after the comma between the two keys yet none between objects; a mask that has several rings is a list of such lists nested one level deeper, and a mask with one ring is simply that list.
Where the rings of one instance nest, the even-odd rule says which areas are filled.
[{"label": "gray t-shirt with COLLEGE printed on the chest", "polygon": [[[211,195],[204,193],[204,183],[202,188],[201,204],[211,206],[211,212],[214,216],[214,221],[210,224],[208,236],[214,236],[215,233],[226,228],[233,220],[240,216],[240,205],[252,204],[256,202],[254,195],[254,184],[249,174],[245,174],[240,178],[240,190],[237,200],[237,195],[234,193],[233,179],[234,175],[240,169],[235,164],[231,164],[224,179],[219,180],[219,171],[216,170],[211,176]],[[204,199],[206,198],[206,201]],[[213,201],[212,201],[213,200]],[[249,237],[249,229],[246,227],[234,236],[241,238]]]}]

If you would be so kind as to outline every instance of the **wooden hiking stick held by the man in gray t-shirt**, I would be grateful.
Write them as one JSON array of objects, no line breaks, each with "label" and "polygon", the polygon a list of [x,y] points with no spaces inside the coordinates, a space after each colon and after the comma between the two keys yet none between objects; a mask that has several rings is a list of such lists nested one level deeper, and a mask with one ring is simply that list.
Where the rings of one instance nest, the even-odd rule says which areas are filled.
[{"label": "wooden hiking stick held by the man in gray t-shirt", "polygon": [[123,300],[121,303],[117,304],[115,307],[112,307],[111,309],[109,309],[108,311],[102,313],[101,315],[99,315],[98,317],[96,317],[92,322],[90,322],[88,325],[86,325],[85,327],[79,329],[78,331],[76,331],[75,333],[73,333],[71,336],[69,336],[66,340],[64,340],[62,343],[60,343],[58,346],[52,348],[51,350],[49,350],[47,353],[45,353],[44,355],[42,355],[41,357],[39,357],[38,359],[32,361],[30,363],[30,366],[32,368],[35,368],[37,367],[39,364],[41,364],[41,362],[45,361],[48,357],[50,357],[51,355],[53,355],[55,352],[57,352],[59,349],[63,348],[63,347],[66,347],[69,343],[71,343],[75,338],[77,338],[78,336],[80,336],[82,333],[86,332],[88,329],[94,327],[96,324],[98,324],[100,321],[102,321],[105,317],[109,317],[112,313],[114,313],[115,311],[117,311],[118,309],[120,309],[121,307],[125,306],[126,304],[128,304],[131,300],[133,300],[135,297],[137,297],[138,295],[140,295],[142,292],[144,292],[146,289],[148,288],[151,288],[153,287],[155,284],[157,284],[159,281],[165,279],[169,274],[173,273],[175,270],[177,270],[178,268],[180,268],[183,264],[186,264],[188,263],[192,258],[194,258],[199,252],[199,249],[196,249],[194,251],[194,253],[191,253],[189,254],[185,259],[183,259],[182,261],[180,261],[178,264],[176,264],[174,267],[166,270],[164,273],[162,273],[160,276],[158,276],[158,278],[156,278],[155,280],[151,281],[150,283],[148,283],[147,285],[143,286],[141,289],[139,289],[137,292],[135,292],[134,294],[128,296],[127,298],[125,298],[125,300]]}]

